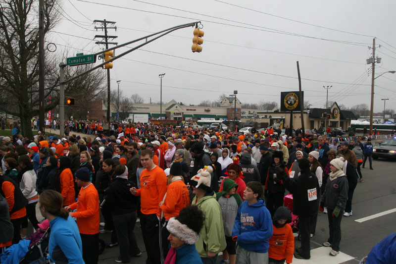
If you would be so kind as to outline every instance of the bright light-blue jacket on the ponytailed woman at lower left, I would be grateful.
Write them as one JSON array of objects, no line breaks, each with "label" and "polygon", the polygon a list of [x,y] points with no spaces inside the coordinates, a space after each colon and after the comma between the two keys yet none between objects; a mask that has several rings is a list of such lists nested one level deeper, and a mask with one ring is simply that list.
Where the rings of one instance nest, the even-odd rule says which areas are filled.
[{"label": "bright light-blue jacket on the ponytailed woman at lower left", "polygon": [[60,249],[69,264],[84,264],[83,244],[73,218],[69,215],[66,220],[58,216],[49,222],[49,226],[51,227],[48,244],[49,260],[54,262],[53,257],[60,256]]}]

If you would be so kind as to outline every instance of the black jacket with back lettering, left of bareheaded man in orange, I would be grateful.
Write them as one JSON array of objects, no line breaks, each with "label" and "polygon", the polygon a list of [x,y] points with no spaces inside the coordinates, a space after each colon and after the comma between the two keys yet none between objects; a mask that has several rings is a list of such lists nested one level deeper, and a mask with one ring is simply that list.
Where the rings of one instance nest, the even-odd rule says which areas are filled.
[{"label": "black jacket with back lettering, left of bareheaded man in orange", "polygon": [[134,212],[138,208],[138,197],[131,194],[130,188],[136,187],[132,181],[115,178],[107,191],[107,203],[112,215]]}]

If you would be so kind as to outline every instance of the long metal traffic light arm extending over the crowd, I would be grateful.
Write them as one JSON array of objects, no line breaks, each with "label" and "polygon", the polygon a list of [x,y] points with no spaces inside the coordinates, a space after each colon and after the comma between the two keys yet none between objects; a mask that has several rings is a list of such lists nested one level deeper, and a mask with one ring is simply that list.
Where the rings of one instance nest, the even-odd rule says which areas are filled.
[{"label": "long metal traffic light arm extending over the crowd", "polygon": [[68,79],[68,80],[65,80],[64,82],[62,82],[62,84],[66,84],[66,83],[68,83],[68,82],[70,82],[70,81],[72,81],[72,80],[74,80],[74,79],[77,79],[77,78],[79,78],[79,77],[81,77],[81,76],[83,76],[83,75],[85,75],[85,74],[87,74],[87,73],[89,73],[89,72],[91,72],[91,71],[93,71],[93,70],[96,70],[96,69],[98,69],[98,68],[101,68],[104,64],[107,64],[107,63],[109,63],[109,62],[111,62],[111,61],[113,61],[113,60],[116,60],[117,58],[120,58],[120,57],[122,57],[122,56],[124,56],[124,55],[126,55],[126,54],[128,54],[128,53],[131,53],[131,52],[133,52],[133,51],[135,51],[135,50],[137,50],[137,49],[139,49],[139,48],[141,48],[141,47],[147,45],[148,43],[153,42],[154,40],[157,40],[157,39],[159,39],[159,38],[161,38],[161,37],[163,37],[163,36],[165,36],[165,35],[167,35],[167,34],[173,32],[173,31],[176,31],[176,30],[182,29],[182,28],[193,27],[193,26],[195,26],[195,25],[198,24],[198,23],[200,23],[200,21],[196,21],[196,22],[192,22],[192,23],[187,23],[187,24],[183,24],[183,25],[171,27],[171,28],[168,28],[168,29],[159,31],[159,32],[157,32],[157,33],[153,33],[153,34],[147,35],[147,36],[145,36],[145,37],[142,37],[142,38],[139,38],[139,39],[136,39],[136,40],[133,40],[133,41],[130,41],[130,42],[127,42],[127,43],[118,45],[118,46],[116,46],[116,47],[112,47],[112,48],[109,48],[109,49],[107,49],[107,50],[104,50],[104,51],[100,51],[100,52],[98,52],[98,53],[95,53],[94,55],[103,54],[103,53],[105,53],[105,52],[113,51],[113,50],[115,50],[115,49],[122,48],[122,47],[124,47],[124,46],[129,45],[129,44],[132,44],[132,43],[135,43],[135,42],[138,42],[138,41],[141,41],[141,40],[145,40],[145,39],[147,39],[147,38],[149,38],[149,37],[152,37],[152,36],[155,36],[155,35],[158,35],[158,34],[161,34],[161,33],[165,32],[165,33],[163,33],[163,34],[161,34],[161,35],[159,35],[159,36],[157,36],[157,37],[155,37],[155,38],[153,38],[153,39],[151,39],[151,40],[146,41],[146,42],[143,43],[143,44],[140,44],[140,45],[136,46],[135,48],[132,48],[132,49],[130,49],[130,50],[124,52],[124,53],[119,54],[118,56],[113,57],[112,59],[109,59],[109,60],[107,60],[107,61],[104,61],[104,62],[100,63],[99,65],[97,65],[97,66],[95,66],[95,67],[93,67],[93,68],[91,68],[91,69],[89,69],[89,70],[87,70],[87,71],[85,71],[85,72],[83,72],[83,73],[77,75],[77,76],[74,76],[74,77],[72,77],[72,78],[70,78],[70,79]]}]

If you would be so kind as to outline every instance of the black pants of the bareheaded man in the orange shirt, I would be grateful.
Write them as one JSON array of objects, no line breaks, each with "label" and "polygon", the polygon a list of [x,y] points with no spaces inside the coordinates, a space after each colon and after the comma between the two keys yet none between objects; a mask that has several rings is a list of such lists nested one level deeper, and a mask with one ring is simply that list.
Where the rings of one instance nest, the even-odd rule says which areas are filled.
[{"label": "black pants of the bareheaded man in the orange shirt", "polygon": [[147,252],[146,264],[163,264],[160,221],[156,213],[140,215],[143,241]]}]

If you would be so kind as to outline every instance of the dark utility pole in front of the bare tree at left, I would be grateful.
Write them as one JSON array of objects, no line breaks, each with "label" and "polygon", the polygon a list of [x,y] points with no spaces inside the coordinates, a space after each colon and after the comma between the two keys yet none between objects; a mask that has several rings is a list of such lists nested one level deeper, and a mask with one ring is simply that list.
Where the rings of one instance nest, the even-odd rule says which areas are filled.
[{"label": "dark utility pole in front of the bare tree at left", "polygon": [[39,0],[39,129],[45,134],[45,59],[44,59],[44,0]]}]

